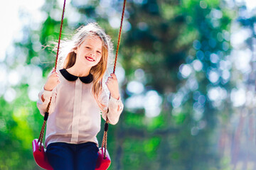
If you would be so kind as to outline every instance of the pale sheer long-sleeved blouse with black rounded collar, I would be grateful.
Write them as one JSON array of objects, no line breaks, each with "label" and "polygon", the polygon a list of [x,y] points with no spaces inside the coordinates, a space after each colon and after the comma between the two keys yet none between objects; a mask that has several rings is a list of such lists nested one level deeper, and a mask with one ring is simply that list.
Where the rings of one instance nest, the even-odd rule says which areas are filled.
[{"label": "pale sheer long-sleeved blouse with black rounded collar", "polygon": [[109,122],[116,124],[124,107],[121,99],[110,97],[109,100],[103,91],[99,99],[106,108],[108,105],[109,112],[102,111],[101,114],[92,94],[92,82],[87,82],[88,77],[75,77],[65,69],[58,73],[60,84],[53,91],[42,90],[38,95],[37,106],[41,115],[45,114],[52,96],[46,126],[46,146],[52,142],[95,142],[98,145],[96,135],[100,132],[100,115],[104,119],[107,115]]}]

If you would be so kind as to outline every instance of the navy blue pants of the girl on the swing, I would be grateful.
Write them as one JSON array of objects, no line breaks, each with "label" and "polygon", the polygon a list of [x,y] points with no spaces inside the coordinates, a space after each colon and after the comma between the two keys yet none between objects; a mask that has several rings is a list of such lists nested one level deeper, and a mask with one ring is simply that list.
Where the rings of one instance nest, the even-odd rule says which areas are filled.
[{"label": "navy blue pants of the girl on the swing", "polygon": [[93,142],[68,144],[51,143],[46,148],[46,156],[54,170],[95,170],[99,151]]}]

